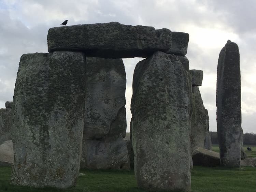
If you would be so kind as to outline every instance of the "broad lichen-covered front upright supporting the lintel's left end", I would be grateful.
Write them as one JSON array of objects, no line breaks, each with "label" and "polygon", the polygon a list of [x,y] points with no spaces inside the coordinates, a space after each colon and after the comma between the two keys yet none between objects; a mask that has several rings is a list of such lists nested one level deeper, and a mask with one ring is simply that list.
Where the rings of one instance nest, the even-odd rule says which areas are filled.
[{"label": "broad lichen-covered front upright supporting the lintel's left end", "polygon": [[13,97],[11,183],[68,188],[79,174],[85,58],[82,53],[25,54]]}]

